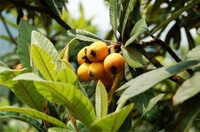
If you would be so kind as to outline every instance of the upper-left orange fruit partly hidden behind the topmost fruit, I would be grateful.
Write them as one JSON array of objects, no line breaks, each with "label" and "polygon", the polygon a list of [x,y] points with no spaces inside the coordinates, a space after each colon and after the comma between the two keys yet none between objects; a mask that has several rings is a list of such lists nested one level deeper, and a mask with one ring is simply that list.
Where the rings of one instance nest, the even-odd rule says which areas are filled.
[{"label": "upper-left orange fruit partly hidden behind the topmost fruit", "polygon": [[84,48],[82,48],[79,52],[78,52],[78,55],[77,55],[77,61],[78,63],[81,65],[85,62],[87,62],[87,56],[86,56],[86,51],[87,51],[87,48],[89,46],[86,46]]}]

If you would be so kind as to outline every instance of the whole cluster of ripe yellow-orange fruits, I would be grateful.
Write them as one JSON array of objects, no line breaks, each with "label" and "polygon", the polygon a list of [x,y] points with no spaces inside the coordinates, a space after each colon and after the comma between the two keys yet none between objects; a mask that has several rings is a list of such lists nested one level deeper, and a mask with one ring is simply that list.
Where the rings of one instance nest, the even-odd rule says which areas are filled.
[{"label": "whole cluster of ripe yellow-orange fruits", "polygon": [[94,42],[82,48],[77,61],[80,64],[77,74],[81,81],[101,80],[106,88],[113,83],[113,75],[124,69],[125,60],[119,53],[110,53],[104,42]]}]

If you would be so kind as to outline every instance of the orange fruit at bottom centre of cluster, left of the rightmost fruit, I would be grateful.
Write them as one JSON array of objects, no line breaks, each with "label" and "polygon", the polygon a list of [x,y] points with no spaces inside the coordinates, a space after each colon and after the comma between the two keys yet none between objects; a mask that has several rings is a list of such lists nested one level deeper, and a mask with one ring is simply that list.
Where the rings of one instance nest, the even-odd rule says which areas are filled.
[{"label": "orange fruit at bottom centre of cluster, left of the rightmost fruit", "polygon": [[92,64],[90,64],[88,74],[90,78],[94,80],[102,78],[105,75],[103,63],[93,62]]}]

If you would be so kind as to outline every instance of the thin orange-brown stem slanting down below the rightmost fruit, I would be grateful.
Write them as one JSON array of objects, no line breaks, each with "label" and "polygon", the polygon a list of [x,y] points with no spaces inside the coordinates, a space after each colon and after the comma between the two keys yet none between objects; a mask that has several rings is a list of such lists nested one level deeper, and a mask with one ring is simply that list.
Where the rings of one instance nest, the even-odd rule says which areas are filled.
[{"label": "thin orange-brown stem slanting down below the rightmost fruit", "polygon": [[121,71],[120,73],[118,73],[117,76],[115,77],[115,80],[114,80],[113,85],[112,85],[112,87],[111,87],[111,89],[110,89],[110,92],[108,93],[108,104],[110,104],[111,101],[112,101],[114,92],[115,92],[115,90],[117,89],[117,86],[119,85],[119,81],[120,81],[121,76],[123,75],[123,72],[124,72],[124,71],[122,70],[122,71]]}]

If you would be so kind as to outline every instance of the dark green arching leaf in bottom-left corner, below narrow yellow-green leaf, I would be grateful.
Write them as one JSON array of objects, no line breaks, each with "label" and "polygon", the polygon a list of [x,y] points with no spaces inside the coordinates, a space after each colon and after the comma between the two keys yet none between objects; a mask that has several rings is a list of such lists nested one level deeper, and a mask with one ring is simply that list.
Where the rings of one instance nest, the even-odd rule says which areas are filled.
[{"label": "dark green arching leaf in bottom-left corner, below narrow yellow-green leaf", "polygon": [[14,118],[20,121],[24,121],[26,123],[34,126],[39,132],[45,132],[46,130],[43,128],[42,124],[39,123],[36,119],[26,116],[24,114],[20,114],[17,112],[0,112],[0,118]]}]

